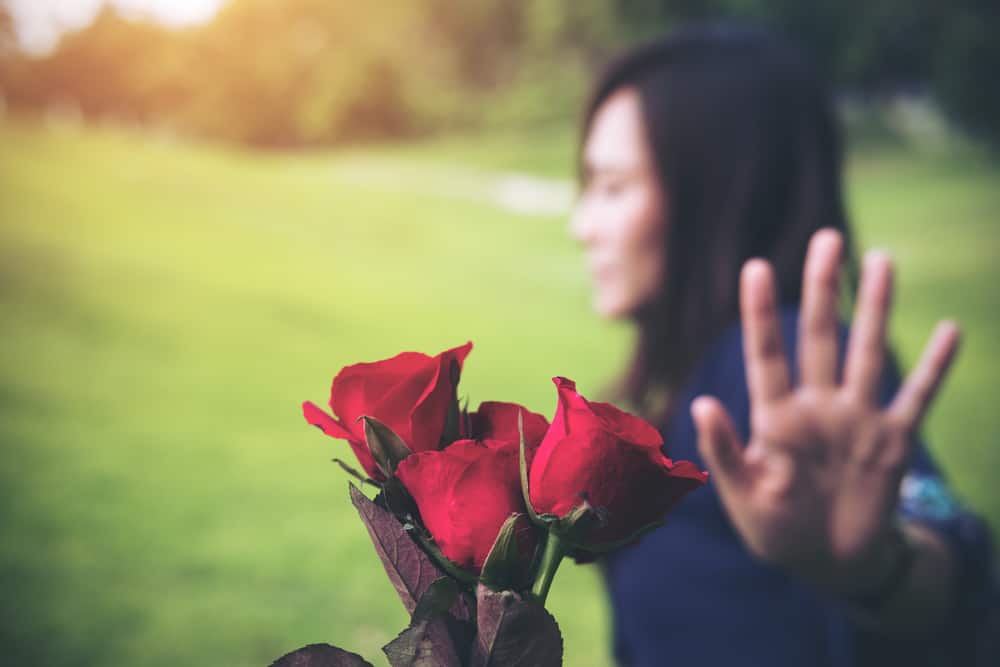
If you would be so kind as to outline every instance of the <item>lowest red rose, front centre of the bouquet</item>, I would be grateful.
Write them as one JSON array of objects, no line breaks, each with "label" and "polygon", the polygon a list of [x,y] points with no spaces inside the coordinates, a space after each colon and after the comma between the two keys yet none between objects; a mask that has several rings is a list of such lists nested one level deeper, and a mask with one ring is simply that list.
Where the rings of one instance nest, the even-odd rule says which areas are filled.
[{"label": "lowest red rose, front centre of the bouquet", "polygon": [[[445,449],[411,454],[396,468],[441,552],[476,574],[511,514],[526,513],[518,446],[513,442],[458,440]],[[534,546],[527,516],[518,543]]]}]

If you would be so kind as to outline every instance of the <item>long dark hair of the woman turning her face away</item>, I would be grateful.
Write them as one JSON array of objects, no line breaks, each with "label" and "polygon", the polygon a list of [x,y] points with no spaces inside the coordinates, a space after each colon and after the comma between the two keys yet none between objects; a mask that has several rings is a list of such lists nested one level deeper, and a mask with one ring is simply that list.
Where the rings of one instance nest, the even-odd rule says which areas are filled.
[{"label": "long dark hair of the woman turning her face away", "polygon": [[[629,51],[598,81],[583,140],[597,109],[624,86],[641,99],[667,219],[663,289],[638,314],[618,398],[662,417],[705,345],[738,318],[747,259],[772,263],[782,304],[800,300],[817,229],[844,234],[852,285],[856,265],[832,100],[788,41],[757,27],[703,24]],[[657,406],[661,392],[667,401]]]}]

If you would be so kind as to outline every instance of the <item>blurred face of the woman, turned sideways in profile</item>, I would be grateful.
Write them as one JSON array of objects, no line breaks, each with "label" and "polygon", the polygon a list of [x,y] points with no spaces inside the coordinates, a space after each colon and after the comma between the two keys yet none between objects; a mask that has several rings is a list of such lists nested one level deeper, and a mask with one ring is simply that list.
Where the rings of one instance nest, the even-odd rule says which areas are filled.
[{"label": "blurred face of the woman, turned sideways in profile", "polygon": [[639,93],[624,87],[594,114],[583,146],[583,192],[570,225],[583,244],[594,309],[628,318],[657,296],[664,275],[664,196]]}]

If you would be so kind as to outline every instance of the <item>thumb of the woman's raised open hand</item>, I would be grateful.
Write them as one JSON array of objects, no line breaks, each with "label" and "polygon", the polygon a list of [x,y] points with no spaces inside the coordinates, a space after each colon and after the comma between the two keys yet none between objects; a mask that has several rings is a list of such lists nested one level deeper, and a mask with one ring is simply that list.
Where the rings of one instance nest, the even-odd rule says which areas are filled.
[{"label": "thumb of the woman's raised open hand", "polygon": [[749,469],[743,460],[743,443],[729,413],[718,399],[699,396],[691,403],[691,417],[698,429],[698,452],[719,492],[738,490],[747,481]]}]

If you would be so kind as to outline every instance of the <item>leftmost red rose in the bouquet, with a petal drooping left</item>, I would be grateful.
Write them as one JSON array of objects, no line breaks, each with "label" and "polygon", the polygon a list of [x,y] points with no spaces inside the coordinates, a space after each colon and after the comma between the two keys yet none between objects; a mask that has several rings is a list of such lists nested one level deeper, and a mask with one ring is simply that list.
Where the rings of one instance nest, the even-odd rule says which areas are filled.
[{"label": "leftmost red rose in the bouquet, with a petal drooping left", "polygon": [[471,349],[472,343],[466,343],[436,357],[403,352],[383,361],[346,366],[330,389],[335,417],[309,401],[302,404],[302,413],[327,435],[347,440],[370,477],[385,479],[365,445],[364,424],[358,417],[378,419],[413,452],[437,449],[454,398],[452,364],[461,371]]}]

